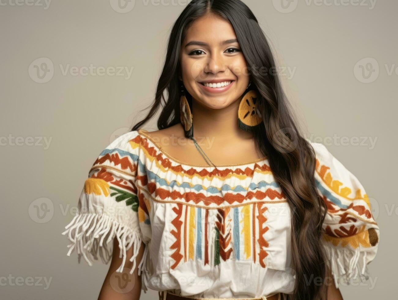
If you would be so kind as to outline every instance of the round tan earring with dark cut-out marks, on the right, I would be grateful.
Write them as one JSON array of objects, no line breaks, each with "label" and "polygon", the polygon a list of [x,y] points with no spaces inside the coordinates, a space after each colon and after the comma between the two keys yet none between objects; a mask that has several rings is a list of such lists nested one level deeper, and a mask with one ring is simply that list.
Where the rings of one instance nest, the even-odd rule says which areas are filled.
[{"label": "round tan earring with dark cut-out marks, on the right", "polygon": [[238,109],[238,125],[240,129],[251,131],[263,121],[256,108],[257,98],[257,91],[250,90],[240,101]]}]

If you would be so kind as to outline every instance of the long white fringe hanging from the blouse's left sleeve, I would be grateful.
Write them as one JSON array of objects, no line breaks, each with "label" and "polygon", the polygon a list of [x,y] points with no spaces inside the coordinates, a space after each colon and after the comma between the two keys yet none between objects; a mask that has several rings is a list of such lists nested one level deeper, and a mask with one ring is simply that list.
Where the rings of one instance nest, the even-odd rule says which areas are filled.
[{"label": "long white fringe hanging from the blouse's left sleeve", "polygon": [[[133,274],[136,266],[136,257],[141,245],[141,236],[138,231],[133,231],[126,225],[120,224],[105,214],[77,214],[73,220],[65,226],[65,231],[62,235],[68,234],[68,239],[71,243],[68,245],[70,254],[76,248],[78,253],[78,263],[83,255],[84,259],[91,267],[92,262],[90,258],[98,260],[98,253],[100,254],[103,263],[107,264],[112,258],[112,244],[108,243],[116,236],[119,242],[120,253],[119,257],[123,257],[123,262],[116,272],[122,273],[126,262],[126,251],[133,246],[133,256],[130,261],[133,262],[130,274]],[[105,245],[103,245],[104,239]],[[145,247],[146,249],[147,247]],[[142,259],[140,265],[142,265]]]}]

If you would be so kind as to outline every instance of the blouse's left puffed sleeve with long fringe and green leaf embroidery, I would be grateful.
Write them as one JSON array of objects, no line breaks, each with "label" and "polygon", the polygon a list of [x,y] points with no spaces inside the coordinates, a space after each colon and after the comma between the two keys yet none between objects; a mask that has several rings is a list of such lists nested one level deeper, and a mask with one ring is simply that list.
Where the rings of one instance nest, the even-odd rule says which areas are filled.
[{"label": "blouse's left puffed sleeve with long fringe and green leaf embroidery", "polygon": [[[66,225],[66,235],[71,242],[68,256],[76,249],[78,261],[84,257],[92,266],[92,259],[103,263],[112,257],[113,239],[119,241],[123,262],[117,272],[122,272],[126,251],[133,247],[131,274],[141,241],[150,239],[148,211],[137,190],[139,147],[137,131],[119,136],[94,161],[78,200],[78,214]],[[111,243],[109,243],[111,242]]]}]

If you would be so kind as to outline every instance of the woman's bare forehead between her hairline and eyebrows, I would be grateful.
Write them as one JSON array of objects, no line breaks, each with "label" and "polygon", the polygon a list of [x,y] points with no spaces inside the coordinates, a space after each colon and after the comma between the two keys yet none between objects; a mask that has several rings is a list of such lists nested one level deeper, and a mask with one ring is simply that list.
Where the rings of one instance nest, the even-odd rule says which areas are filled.
[{"label": "woman's bare forehead between her hairline and eyebrows", "polygon": [[203,41],[209,44],[219,44],[226,39],[236,39],[232,24],[215,14],[207,14],[193,21],[188,27],[183,45],[189,41]]}]

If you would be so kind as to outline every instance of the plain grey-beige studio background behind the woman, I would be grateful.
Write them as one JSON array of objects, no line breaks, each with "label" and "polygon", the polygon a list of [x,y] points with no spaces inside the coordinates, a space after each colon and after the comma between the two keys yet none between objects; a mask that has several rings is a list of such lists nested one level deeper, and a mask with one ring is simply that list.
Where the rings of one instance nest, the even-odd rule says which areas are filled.
[{"label": "plain grey-beige studio background behind the woman", "polygon": [[[300,0],[286,9],[281,0],[245,1],[279,64],[293,72],[284,72],[283,83],[307,137],[324,143],[371,198],[381,235],[369,265],[373,283],[342,286],[345,299],[396,291],[398,3],[362,1]],[[0,298],[96,299],[109,266],[99,261],[89,267],[83,259],[78,265],[76,252],[66,256],[68,241],[60,233],[100,151],[144,116],[137,112],[154,97],[168,34],[187,2],[136,0],[128,12],[113,0],[1,3]],[[39,83],[35,66],[46,61],[54,67]],[[63,74],[68,66],[90,64],[133,71]],[[328,139],[334,136],[337,142]],[[365,144],[342,144],[341,137]],[[36,209],[46,208],[43,203],[48,211],[40,219]],[[34,279],[31,285],[29,277],[51,283],[46,288]],[[157,292],[141,293],[141,299],[153,298]]]}]

